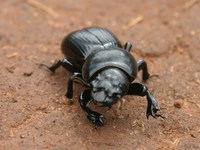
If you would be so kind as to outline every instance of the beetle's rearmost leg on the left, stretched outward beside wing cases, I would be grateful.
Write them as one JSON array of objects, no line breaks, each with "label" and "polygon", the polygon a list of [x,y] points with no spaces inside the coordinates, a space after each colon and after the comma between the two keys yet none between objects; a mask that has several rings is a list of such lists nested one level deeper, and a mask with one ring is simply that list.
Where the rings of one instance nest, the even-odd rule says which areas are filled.
[{"label": "beetle's rearmost leg on the left, stretched outward beside wing cases", "polygon": [[63,66],[65,69],[69,70],[70,72],[78,72],[79,70],[76,69],[76,67],[67,59],[64,58],[62,60],[59,60],[56,64],[53,66],[49,67],[46,64],[41,64],[42,66],[48,68],[51,72],[55,72],[56,69],[58,69],[60,66]]}]

